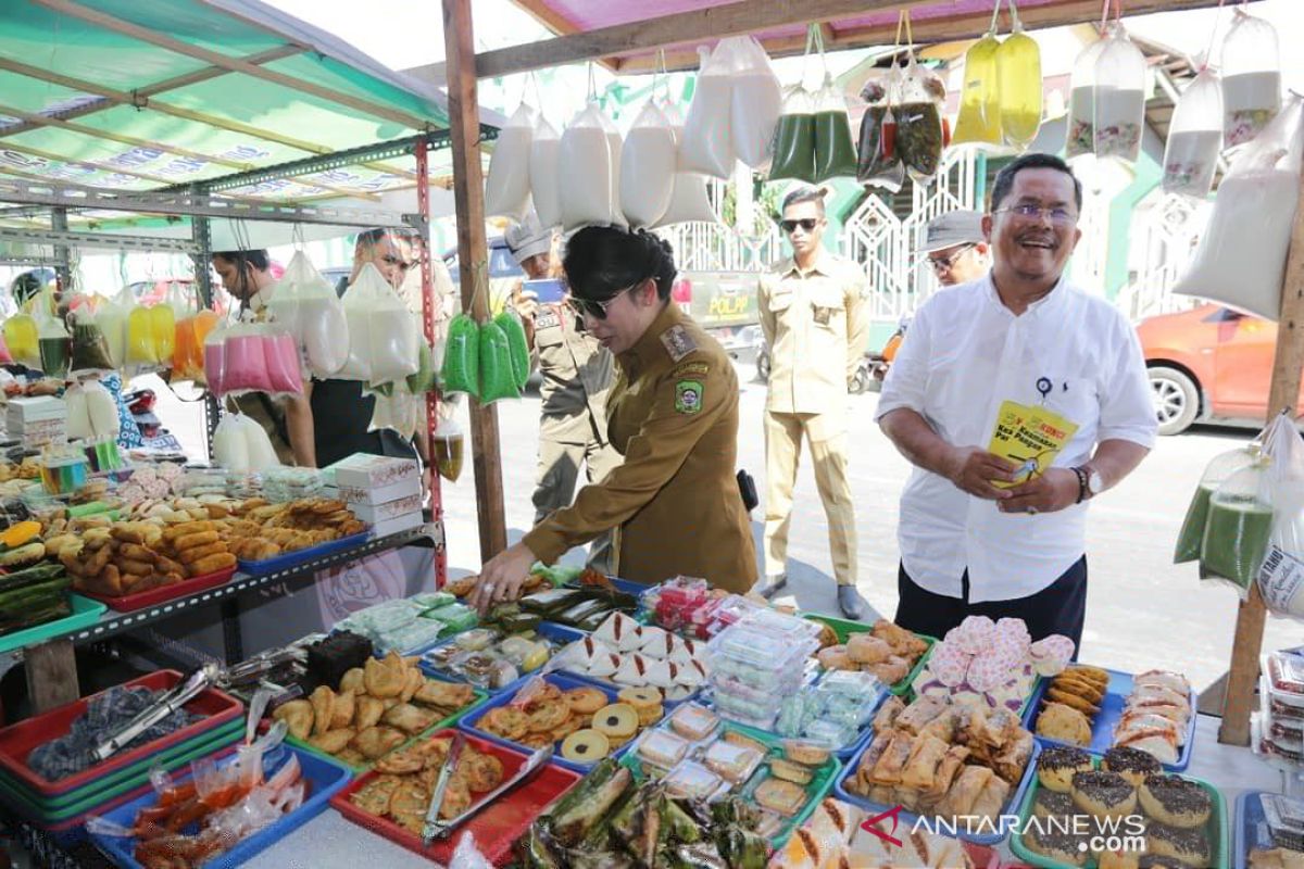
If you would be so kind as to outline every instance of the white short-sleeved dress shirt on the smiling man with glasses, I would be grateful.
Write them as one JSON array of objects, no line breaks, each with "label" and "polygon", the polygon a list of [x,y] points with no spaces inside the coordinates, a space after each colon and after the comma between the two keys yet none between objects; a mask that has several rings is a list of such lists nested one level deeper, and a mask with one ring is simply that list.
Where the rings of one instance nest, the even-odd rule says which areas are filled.
[{"label": "white short-sleeved dress shirt on the smiling man with glasses", "polygon": [[[1043,396],[1038,380],[1051,383]],[[1045,382],[1042,383],[1045,387]],[[1052,466],[1081,465],[1102,440],[1154,444],[1158,422],[1136,330],[1103,298],[1063,278],[1016,317],[991,274],[934,294],[915,314],[879,399],[878,418],[910,408],[947,443],[991,443],[1001,401],[1045,404],[1077,423]],[[1086,550],[1086,503],[1001,513],[949,479],[915,468],[897,529],[906,573],[934,594],[969,601],[1030,597]]]}]

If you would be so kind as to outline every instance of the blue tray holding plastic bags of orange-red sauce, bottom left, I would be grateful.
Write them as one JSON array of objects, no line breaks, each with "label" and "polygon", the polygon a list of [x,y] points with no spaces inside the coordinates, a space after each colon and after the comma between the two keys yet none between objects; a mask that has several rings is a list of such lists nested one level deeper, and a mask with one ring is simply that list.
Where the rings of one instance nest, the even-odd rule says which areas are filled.
[{"label": "blue tray holding plastic bags of orange-red sauce, bottom left", "polygon": [[[349,771],[335,763],[334,761],[327,761],[323,757],[312,754],[309,752],[300,752],[295,748],[287,748],[284,758],[289,760],[291,754],[299,757],[299,763],[303,767],[303,778],[308,782],[308,796],[304,804],[291,812],[289,814],[282,817],[275,823],[271,823],[258,833],[253,834],[248,839],[237,843],[233,848],[226,853],[214,857],[213,860],[203,864],[205,869],[233,869],[240,864],[245,862],[259,851],[263,851],[276,842],[284,839],[287,835],[304,826],[314,817],[326,810],[327,801],[346,784],[351,778]],[[232,757],[223,758],[219,765],[224,766],[230,763]],[[283,761],[284,762],[284,761]],[[279,769],[280,765],[278,765]],[[275,770],[271,771],[274,774]],[[183,776],[176,776],[173,780],[184,782],[189,779],[189,774]],[[143,808],[151,806],[158,803],[158,797],[150,792],[137,800],[126,803],[117,806],[110,812],[106,817],[115,823],[120,823],[124,827],[132,826],[136,821],[136,813]],[[117,836],[106,836],[99,834],[91,834],[95,840],[95,846],[107,853],[113,862],[119,866],[129,866],[130,869],[142,869],[141,864],[136,862],[133,853],[136,851],[136,839],[123,839]]]}]

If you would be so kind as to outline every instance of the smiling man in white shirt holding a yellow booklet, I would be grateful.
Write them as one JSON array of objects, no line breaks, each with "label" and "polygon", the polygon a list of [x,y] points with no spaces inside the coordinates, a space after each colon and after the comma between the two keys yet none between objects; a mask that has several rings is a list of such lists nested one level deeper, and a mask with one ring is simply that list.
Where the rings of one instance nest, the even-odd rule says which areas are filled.
[{"label": "smiling man in white shirt holding a yellow booklet", "polygon": [[[897,624],[941,637],[968,615],[1016,616],[1033,638],[1078,642],[1086,615],[1086,503],[1146,456],[1157,422],[1136,332],[1069,285],[1082,186],[1029,154],[996,176],[983,216],[994,264],[918,311],[879,400],[883,431],[914,465],[901,495]],[[1003,401],[1077,430],[1016,486],[987,451]]]}]

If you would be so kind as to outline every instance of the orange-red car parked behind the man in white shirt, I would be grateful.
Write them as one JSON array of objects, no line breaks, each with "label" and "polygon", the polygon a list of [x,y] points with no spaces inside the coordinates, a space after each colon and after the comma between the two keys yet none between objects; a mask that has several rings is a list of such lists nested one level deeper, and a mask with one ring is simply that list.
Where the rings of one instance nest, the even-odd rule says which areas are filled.
[{"label": "orange-red car parked behind the man in white shirt", "polygon": [[[1193,422],[1264,425],[1277,323],[1221,305],[1163,314],[1137,326],[1159,434]],[[1304,388],[1297,413],[1304,413]]]}]

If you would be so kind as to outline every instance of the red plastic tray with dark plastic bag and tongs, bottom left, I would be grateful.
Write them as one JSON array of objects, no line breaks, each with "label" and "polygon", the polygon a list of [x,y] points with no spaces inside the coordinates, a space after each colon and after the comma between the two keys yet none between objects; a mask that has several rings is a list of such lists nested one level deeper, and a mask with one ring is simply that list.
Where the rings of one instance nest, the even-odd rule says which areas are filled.
[{"label": "red plastic tray with dark plastic bag and tongs, bottom left", "polygon": [[[179,681],[181,681],[181,674],[176,670],[159,670],[158,672],[123,683],[123,685],[125,688],[140,685],[150,691],[167,691]],[[95,694],[95,697],[98,696]],[[216,688],[209,688],[185,705],[188,711],[201,715],[200,720],[162,739],[116,754],[103,763],[96,763],[90,769],[59,779],[57,782],[51,782],[29,769],[27,756],[31,750],[67,734],[72,728],[73,720],[86,711],[89,701],[90,697],[82,697],[59,709],[52,709],[44,715],[37,715],[35,718],[29,718],[0,730],[0,770],[10,778],[18,779],[37,793],[57,796],[85,787],[106,773],[146,760],[150,754],[160,749],[194,739],[200,734],[220,727],[231,719],[239,718],[244,711],[244,705],[239,700]]]}]

